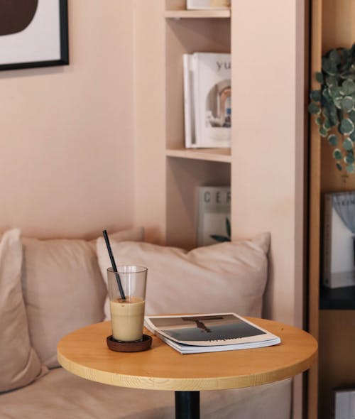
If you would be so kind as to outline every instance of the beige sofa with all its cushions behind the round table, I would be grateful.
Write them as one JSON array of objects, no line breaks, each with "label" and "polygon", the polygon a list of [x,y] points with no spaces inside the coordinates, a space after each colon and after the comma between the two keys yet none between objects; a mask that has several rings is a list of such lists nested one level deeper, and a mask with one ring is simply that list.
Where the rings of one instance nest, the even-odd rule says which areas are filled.
[{"label": "beige sofa with all its cushions behind the round table", "polygon": [[[268,235],[191,252],[111,235],[119,263],[148,266],[147,313],[261,314]],[[94,383],[62,369],[56,344],[105,319],[104,242],[21,238],[0,242],[0,418],[174,418],[174,394]],[[183,297],[183,298],[180,298]],[[193,356],[193,355],[186,355]],[[257,350],[256,350],[257,357]],[[289,419],[291,381],[201,393],[201,417]]]}]

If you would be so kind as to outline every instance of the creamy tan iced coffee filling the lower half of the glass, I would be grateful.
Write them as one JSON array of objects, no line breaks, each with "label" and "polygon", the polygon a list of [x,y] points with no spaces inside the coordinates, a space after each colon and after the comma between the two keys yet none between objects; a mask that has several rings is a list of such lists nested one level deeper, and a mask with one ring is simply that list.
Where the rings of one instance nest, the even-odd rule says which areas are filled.
[{"label": "creamy tan iced coffee filling the lower half of the glass", "polygon": [[126,297],[110,300],[112,336],[124,342],[140,340],[143,335],[143,298]]}]

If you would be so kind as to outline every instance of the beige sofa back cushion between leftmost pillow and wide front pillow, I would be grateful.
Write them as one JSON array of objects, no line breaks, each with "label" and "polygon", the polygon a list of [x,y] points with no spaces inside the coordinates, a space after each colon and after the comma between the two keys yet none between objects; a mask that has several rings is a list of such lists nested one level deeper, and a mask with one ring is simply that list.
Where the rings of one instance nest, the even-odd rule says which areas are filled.
[{"label": "beige sofa back cushion between leftmost pillow and wide front pillow", "polygon": [[[114,236],[141,239],[142,229]],[[104,319],[107,289],[94,243],[23,238],[22,285],[31,342],[49,368],[59,366],[57,343],[65,334]]]}]

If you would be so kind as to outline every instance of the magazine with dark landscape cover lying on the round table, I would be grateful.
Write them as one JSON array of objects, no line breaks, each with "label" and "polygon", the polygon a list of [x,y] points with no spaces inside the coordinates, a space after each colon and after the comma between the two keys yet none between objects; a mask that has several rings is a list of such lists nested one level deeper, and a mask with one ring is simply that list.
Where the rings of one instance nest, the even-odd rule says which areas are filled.
[{"label": "magazine with dark landscape cover lying on the round table", "polygon": [[146,316],[148,330],[180,354],[269,347],[280,338],[233,312]]}]

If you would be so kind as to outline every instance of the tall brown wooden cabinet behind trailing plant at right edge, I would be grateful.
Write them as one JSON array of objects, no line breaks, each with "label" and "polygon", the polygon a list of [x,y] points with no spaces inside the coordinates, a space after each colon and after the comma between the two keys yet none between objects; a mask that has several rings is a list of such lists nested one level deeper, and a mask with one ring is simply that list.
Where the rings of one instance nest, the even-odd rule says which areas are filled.
[{"label": "tall brown wooden cabinet behind trailing plant at right edge", "polygon": [[[321,57],[332,48],[349,48],[355,41],[353,0],[313,0],[311,75],[321,69]],[[309,375],[309,418],[332,417],[332,388],[355,383],[355,290],[322,289],[322,208],[325,192],[355,190],[355,176],[344,181],[332,157],[332,148],[310,124],[310,259],[309,330],[319,339],[319,364]],[[349,310],[352,309],[352,310]]]}]

